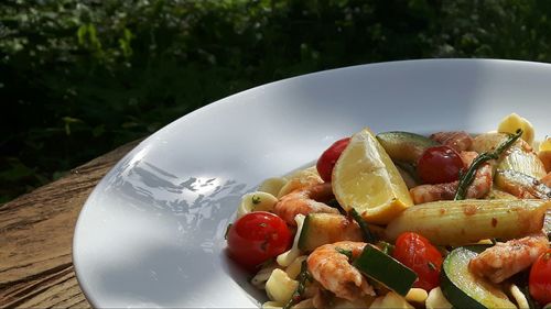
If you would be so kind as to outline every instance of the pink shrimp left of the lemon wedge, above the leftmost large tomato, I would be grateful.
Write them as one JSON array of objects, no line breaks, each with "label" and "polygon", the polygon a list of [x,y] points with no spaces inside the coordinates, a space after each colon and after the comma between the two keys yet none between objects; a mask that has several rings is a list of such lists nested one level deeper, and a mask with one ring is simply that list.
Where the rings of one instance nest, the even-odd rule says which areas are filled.
[{"label": "pink shrimp left of the lemon wedge, above the leftmost large tomato", "polygon": [[291,191],[280,198],[273,207],[273,212],[290,225],[296,225],[294,216],[309,214],[312,212],[339,213],[336,208],[327,206],[322,201],[333,198],[331,183],[315,184]]}]

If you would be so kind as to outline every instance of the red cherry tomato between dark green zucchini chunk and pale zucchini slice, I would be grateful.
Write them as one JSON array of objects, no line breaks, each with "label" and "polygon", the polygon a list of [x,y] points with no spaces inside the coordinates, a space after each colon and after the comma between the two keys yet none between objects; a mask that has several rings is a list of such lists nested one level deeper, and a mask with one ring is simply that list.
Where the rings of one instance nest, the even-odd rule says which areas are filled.
[{"label": "red cherry tomato between dark green zucchini chunk and pale zucchini slice", "polygon": [[429,291],[440,286],[442,254],[428,239],[412,232],[400,234],[392,257],[415,272],[419,278],[414,287]]}]

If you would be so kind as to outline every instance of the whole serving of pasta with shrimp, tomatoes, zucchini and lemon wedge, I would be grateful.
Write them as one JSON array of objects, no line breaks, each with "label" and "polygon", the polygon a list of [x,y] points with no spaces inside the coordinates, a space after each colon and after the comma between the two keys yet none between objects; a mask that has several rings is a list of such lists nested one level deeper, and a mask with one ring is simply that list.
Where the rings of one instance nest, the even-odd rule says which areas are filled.
[{"label": "whole serving of pasta with shrimp, tomatoes, zucchini and lemon wedge", "polygon": [[551,308],[551,137],[364,129],[228,227],[262,308]]}]

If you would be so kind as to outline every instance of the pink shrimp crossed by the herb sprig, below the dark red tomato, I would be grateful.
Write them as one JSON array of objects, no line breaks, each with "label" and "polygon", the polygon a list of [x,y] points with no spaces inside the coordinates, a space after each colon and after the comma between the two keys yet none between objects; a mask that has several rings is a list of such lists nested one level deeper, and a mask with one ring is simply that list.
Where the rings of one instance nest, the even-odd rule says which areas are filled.
[{"label": "pink shrimp crossed by the herb sprig, below the dark red tomato", "polygon": [[[475,152],[461,152],[461,157],[465,166],[469,166],[478,154]],[[493,173],[491,165],[484,163],[475,174],[473,184],[467,188],[467,198],[483,198],[491,188]],[[423,203],[436,200],[452,200],[457,191],[460,181],[436,184],[436,185],[421,185],[410,189],[411,198],[414,203]]]}]

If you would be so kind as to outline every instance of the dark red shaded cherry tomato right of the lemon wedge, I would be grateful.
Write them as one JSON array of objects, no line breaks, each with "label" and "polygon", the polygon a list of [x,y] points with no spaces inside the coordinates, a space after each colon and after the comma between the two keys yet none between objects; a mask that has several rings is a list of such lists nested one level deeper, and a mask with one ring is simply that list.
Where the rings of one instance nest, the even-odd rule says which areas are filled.
[{"label": "dark red shaded cherry tomato right of the lemon wedge", "polygon": [[418,162],[417,172],[425,184],[452,183],[465,168],[460,154],[449,146],[426,148]]}]

